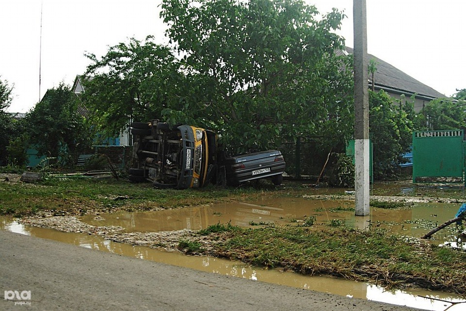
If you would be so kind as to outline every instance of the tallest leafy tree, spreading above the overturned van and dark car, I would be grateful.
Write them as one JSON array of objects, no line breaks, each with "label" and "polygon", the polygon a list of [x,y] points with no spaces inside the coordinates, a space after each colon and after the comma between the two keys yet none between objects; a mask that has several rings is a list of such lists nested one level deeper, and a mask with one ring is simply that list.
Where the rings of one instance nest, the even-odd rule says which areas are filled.
[{"label": "tallest leafy tree, spreading above the overturned van and dark car", "polygon": [[[299,135],[323,143],[352,132],[350,59],[335,54],[344,15],[317,18],[300,0],[164,0],[167,36],[183,56],[170,123],[213,127],[233,152]],[[343,70],[342,70],[343,69]]]}]

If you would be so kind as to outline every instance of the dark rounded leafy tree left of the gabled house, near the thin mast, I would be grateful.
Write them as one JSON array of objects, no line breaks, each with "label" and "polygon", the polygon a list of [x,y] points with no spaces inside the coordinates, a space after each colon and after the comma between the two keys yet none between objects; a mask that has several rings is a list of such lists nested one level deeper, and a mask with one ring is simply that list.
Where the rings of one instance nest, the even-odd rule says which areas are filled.
[{"label": "dark rounded leafy tree left of the gabled house, near the thin mast", "polygon": [[[25,120],[31,144],[39,156],[63,157],[88,148],[94,137],[85,118],[78,113],[80,101],[60,83],[47,91]],[[63,160],[62,164],[67,161]]]}]

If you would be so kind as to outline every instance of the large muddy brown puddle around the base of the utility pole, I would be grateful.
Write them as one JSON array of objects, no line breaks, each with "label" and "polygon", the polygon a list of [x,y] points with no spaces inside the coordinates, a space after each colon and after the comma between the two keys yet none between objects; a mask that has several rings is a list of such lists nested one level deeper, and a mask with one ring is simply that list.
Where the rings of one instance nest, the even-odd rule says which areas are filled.
[{"label": "large muddy brown puddle around the base of the utility pole", "polygon": [[[361,230],[385,228],[395,234],[421,237],[431,229],[454,218],[460,204],[416,203],[409,208],[383,209],[371,207],[370,216],[355,217],[354,201],[273,198],[256,202],[226,202],[212,206],[195,206],[157,212],[117,212],[87,215],[81,218],[94,226],[120,226],[125,232],[160,232],[200,230],[217,223],[242,227],[257,225],[302,225],[315,217],[313,228],[345,225]],[[103,220],[98,220],[103,218]],[[456,245],[455,226],[435,233],[429,243]],[[463,247],[466,247],[463,245]]]}]

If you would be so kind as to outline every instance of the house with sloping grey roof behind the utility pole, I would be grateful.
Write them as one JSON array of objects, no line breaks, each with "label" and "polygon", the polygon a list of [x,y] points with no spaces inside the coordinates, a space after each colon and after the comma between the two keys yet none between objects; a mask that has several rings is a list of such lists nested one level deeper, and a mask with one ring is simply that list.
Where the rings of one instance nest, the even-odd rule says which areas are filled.
[{"label": "house with sloping grey roof behind the utility pole", "polygon": [[[351,47],[346,47],[348,54],[353,54]],[[376,63],[377,71],[374,73],[374,80],[372,81],[372,74],[369,74],[369,88],[378,92],[385,91],[390,96],[400,99],[402,95],[410,98],[414,95],[414,109],[419,112],[427,103],[436,98],[446,98],[442,94],[430,86],[416,80],[415,78],[407,75],[398,68],[392,66],[388,62],[384,62],[374,55],[368,54],[368,60],[373,60]]]}]

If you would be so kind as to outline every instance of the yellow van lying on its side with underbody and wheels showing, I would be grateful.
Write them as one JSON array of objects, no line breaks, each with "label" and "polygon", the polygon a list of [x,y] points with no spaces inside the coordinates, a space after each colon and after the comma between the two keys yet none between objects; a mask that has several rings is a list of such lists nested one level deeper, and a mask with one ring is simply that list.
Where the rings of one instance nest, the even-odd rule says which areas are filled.
[{"label": "yellow van lying on its side with underbody and wheels showing", "polygon": [[154,187],[202,187],[216,165],[216,135],[191,125],[170,127],[153,120],[133,123],[133,168],[130,180]]}]

